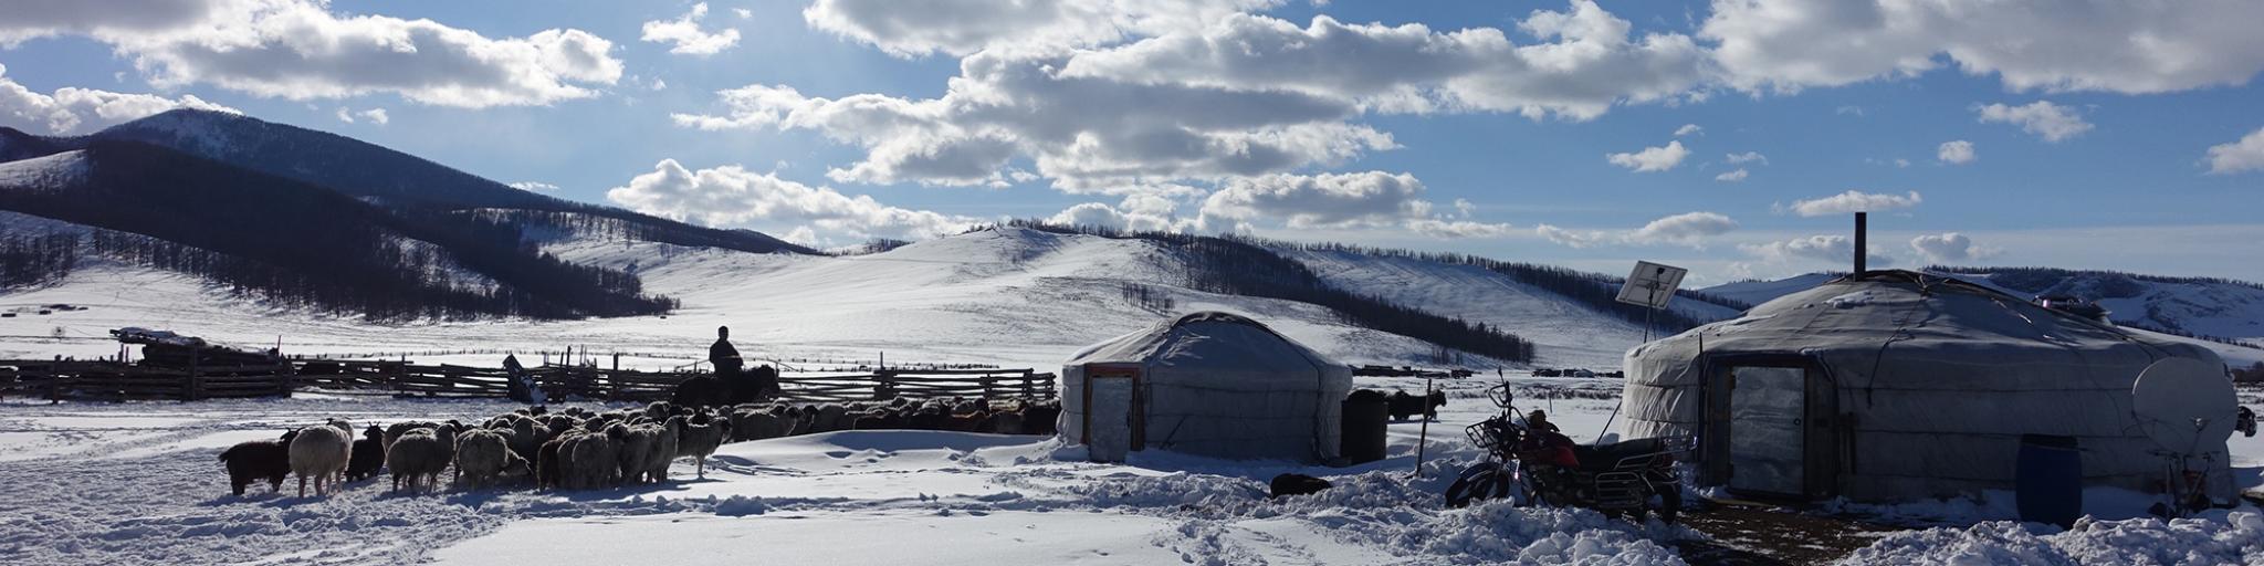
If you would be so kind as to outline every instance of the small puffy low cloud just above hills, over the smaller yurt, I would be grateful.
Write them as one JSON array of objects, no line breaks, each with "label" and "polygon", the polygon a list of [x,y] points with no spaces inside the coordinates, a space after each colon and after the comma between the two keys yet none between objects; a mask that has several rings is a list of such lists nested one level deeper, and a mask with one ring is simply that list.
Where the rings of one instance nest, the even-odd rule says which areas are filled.
[{"label": "small puffy low cloud just above hills, over the smaller yurt", "polygon": [[1420,199],[1413,174],[1266,174],[1227,183],[1202,201],[1202,217],[1275,217],[1290,229],[1386,226],[1420,220],[1431,204]]}]

